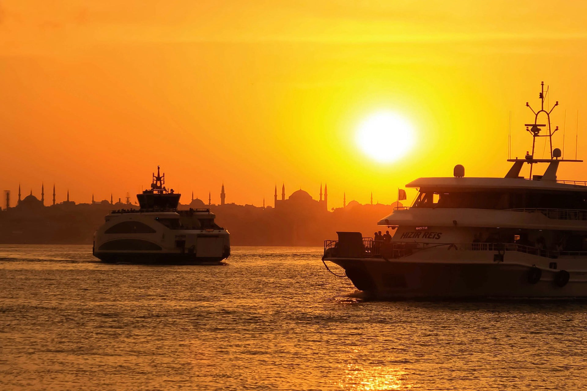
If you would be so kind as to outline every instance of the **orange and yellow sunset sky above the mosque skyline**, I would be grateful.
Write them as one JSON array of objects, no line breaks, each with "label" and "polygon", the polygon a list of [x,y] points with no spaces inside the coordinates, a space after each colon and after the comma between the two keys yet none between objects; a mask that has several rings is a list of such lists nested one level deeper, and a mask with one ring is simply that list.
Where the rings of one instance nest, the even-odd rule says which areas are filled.
[{"label": "orange and yellow sunset sky above the mosque skyline", "polygon": [[[572,158],[577,111],[587,125],[585,15],[579,1],[2,1],[2,190],[123,198],[160,164],[184,202],[192,190],[219,202],[224,181],[227,202],[272,205],[282,182],[318,198],[328,182],[330,206],[343,191],[390,203],[455,164],[505,175],[509,112],[522,156],[542,80],[561,103],[555,147],[566,110]],[[355,145],[380,110],[416,129],[402,161]],[[587,179],[567,166],[560,179]]]}]

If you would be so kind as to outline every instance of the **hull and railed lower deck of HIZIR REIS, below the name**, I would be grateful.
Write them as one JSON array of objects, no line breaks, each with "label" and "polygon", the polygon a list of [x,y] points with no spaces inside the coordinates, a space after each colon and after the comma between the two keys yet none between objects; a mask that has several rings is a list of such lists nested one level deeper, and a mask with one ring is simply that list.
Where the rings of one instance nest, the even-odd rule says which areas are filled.
[{"label": "hull and railed lower deck of HIZIR REIS, below the name", "polygon": [[357,289],[375,297],[587,298],[585,251],[340,237],[326,241],[323,261],[338,264]]}]

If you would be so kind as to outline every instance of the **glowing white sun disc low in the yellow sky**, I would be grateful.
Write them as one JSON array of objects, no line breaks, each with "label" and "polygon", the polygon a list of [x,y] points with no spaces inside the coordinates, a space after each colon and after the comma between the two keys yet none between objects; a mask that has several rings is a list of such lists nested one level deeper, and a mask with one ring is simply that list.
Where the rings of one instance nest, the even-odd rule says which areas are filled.
[{"label": "glowing white sun disc low in the yellow sky", "polygon": [[356,142],[370,158],[389,163],[410,152],[414,144],[414,130],[409,121],[400,115],[376,113],[359,125]]}]

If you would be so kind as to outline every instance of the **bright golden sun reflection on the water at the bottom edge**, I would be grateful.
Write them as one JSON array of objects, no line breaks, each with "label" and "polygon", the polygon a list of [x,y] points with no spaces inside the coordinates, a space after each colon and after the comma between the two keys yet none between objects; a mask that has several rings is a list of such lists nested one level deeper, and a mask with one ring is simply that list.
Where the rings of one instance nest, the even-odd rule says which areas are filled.
[{"label": "bright golden sun reflection on the water at the bottom edge", "polygon": [[345,378],[339,382],[339,387],[344,390],[407,390],[413,386],[406,379],[406,371],[402,368],[365,368],[361,365],[349,365],[345,373]]}]

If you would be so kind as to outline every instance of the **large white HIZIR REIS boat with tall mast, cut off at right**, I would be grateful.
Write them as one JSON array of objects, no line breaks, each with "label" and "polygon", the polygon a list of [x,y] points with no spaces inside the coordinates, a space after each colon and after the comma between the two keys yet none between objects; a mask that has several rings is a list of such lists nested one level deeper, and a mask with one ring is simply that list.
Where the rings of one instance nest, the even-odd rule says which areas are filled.
[{"label": "large white HIZIR REIS boat with tall mast, cut off at right", "polygon": [[[338,264],[379,298],[587,298],[587,183],[557,178],[561,162],[579,161],[552,148],[558,127],[551,130],[544,83],[539,97],[526,125],[532,152],[509,159],[504,178],[466,178],[457,165],[454,177],[416,179],[406,185],[419,189],[413,205],[378,223],[392,240],[338,232],[325,241],[325,266]],[[534,158],[538,137],[548,137],[549,159]],[[529,178],[520,176],[524,164]],[[548,164],[544,174],[532,175],[539,164]]]}]

